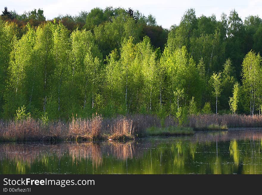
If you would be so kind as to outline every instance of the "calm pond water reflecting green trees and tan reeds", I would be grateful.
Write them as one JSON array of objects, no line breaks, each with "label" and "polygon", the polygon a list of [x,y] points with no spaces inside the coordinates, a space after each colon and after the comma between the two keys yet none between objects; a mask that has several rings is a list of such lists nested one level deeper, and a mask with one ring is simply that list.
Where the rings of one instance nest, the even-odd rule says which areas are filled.
[{"label": "calm pond water reflecting green trees and tan reeds", "polygon": [[1,143],[0,174],[262,174],[262,130],[133,142]]}]

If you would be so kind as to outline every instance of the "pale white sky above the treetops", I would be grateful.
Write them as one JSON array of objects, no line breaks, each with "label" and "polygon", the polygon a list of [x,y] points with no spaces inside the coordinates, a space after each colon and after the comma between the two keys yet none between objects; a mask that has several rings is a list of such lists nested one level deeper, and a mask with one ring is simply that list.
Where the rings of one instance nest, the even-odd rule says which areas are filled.
[{"label": "pale white sky above the treetops", "polygon": [[18,14],[24,11],[41,8],[44,11],[46,19],[53,19],[60,15],[78,15],[81,10],[90,11],[94,7],[123,7],[133,10],[139,10],[145,16],[152,14],[156,18],[158,25],[163,28],[170,28],[171,25],[178,25],[184,12],[189,8],[194,8],[197,17],[201,15],[216,15],[220,20],[222,12],[229,15],[232,9],[236,9],[238,15],[244,21],[249,15],[258,15],[262,18],[261,0],[0,0],[0,9],[15,10]]}]

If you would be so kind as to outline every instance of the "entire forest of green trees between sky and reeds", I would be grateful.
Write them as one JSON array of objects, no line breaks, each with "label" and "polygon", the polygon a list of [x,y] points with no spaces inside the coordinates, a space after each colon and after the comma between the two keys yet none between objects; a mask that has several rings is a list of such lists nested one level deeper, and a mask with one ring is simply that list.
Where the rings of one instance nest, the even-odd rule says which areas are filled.
[{"label": "entire forest of green trees between sky and reeds", "polygon": [[41,10],[24,18],[7,12],[0,20],[1,118],[154,113],[183,123],[187,114],[261,112],[258,16],[242,22],[233,10],[216,20],[189,9],[167,31],[132,9],[94,8],[71,29],[63,17],[46,21]]}]

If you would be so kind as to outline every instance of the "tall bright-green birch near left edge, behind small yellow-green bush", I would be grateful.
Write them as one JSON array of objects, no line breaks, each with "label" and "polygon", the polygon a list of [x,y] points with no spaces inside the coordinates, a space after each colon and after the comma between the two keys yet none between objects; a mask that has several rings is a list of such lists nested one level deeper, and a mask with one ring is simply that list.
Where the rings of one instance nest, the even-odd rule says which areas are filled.
[{"label": "tall bright-green birch near left edge, behind small yellow-green bush", "polygon": [[[32,109],[35,81],[38,78],[38,65],[35,63],[35,30],[27,24],[28,31],[23,37],[15,41],[14,50],[11,53],[9,66],[9,86],[5,93],[6,104],[4,106],[8,117],[14,115],[15,110],[22,105],[29,105]],[[33,99],[33,102],[32,102]],[[32,107],[31,107],[32,105]]]}]

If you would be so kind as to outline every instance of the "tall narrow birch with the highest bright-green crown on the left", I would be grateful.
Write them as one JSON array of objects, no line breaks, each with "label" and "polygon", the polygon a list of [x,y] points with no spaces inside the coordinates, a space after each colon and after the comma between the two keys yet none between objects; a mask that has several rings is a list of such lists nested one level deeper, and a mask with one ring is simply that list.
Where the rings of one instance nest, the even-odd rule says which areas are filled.
[{"label": "tall narrow birch with the highest bright-green crown on the left", "polygon": [[[52,74],[52,92],[47,102],[48,113],[52,113],[53,117],[64,116],[70,104],[68,75],[69,75],[69,31],[66,27],[54,21],[52,25],[53,47],[51,49],[52,58],[54,60],[54,72]],[[71,114],[71,113],[70,113]]]}]

